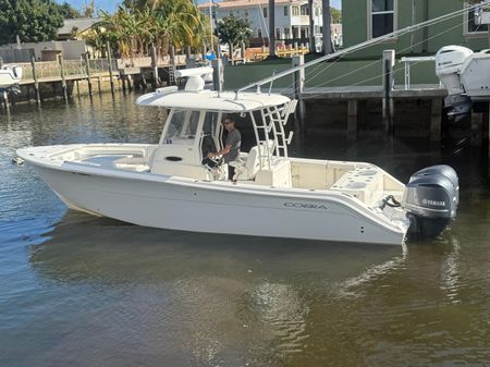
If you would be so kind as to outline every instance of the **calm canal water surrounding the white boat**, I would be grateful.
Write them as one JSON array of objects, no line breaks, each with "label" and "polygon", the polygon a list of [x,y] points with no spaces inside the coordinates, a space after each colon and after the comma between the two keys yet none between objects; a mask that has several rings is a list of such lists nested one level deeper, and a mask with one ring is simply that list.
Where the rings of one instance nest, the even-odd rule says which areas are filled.
[{"label": "calm canal water surrounding the white boat", "polygon": [[457,220],[406,248],[138,228],[66,210],[12,163],[26,145],[156,142],[134,98],[0,110],[0,366],[490,365],[490,188],[465,142],[294,147],[405,181],[451,163]]}]

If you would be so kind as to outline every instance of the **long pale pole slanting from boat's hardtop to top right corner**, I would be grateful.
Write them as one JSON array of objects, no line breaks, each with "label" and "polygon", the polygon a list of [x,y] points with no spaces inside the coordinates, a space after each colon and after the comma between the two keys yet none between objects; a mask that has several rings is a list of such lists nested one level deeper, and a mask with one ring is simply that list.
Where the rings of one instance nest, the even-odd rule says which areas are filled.
[{"label": "long pale pole slanting from boat's hardtop to top right corner", "polygon": [[360,42],[360,44],[347,47],[347,48],[345,48],[343,50],[340,50],[338,52],[334,52],[334,53],[326,54],[326,56],[320,57],[320,58],[318,58],[316,60],[309,61],[309,62],[307,62],[307,63],[305,63],[303,65],[291,68],[289,70],[285,70],[283,72],[278,73],[278,74],[275,74],[273,76],[266,77],[266,78],[260,79],[258,82],[250,83],[250,84],[248,84],[248,85],[246,85],[246,86],[244,86],[242,88],[238,88],[238,89],[235,90],[236,97],[237,97],[240,91],[247,90],[247,89],[250,89],[250,88],[254,88],[254,87],[256,87],[257,90],[260,90],[260,86],[262,86],[262,85],[265,85],[267,83],[271,83],[271,82],[273,82],[273,81],[275,81],[278,78],[281,78],[283,76],[286,76],[286,75],[290,75],[292,73],[295,73],[295,72],[297,72],[297,71],[299,71],[302,69],[306,69],[306,68],[316,65],[316,64],[318,64],[320,62],[328,61],[328,60],[331,60],[331,59],[334,59],[334,58],[339,58],[341,56],[344,56],[344,54],[347,54],[347,53],[351,53],[351,52],[354,52],[354,51],[358,51],[358,50],[360,50],[363,48],[366,48],[366,47],[369,47],[369,46],[372,46],[372,45],[377,45],[377,44],[382,42],[382,41],[384,41],[387,39],[403,36],[405,34],[408,34],[408,33],[421,29],[421,28],[427,27],[429,25],[433,25],[433,24],[438,24],[440,22],[444,22],[444,21],[450,20],[450,19],[452,19],[454,16],[464,14],[464,13],[470,11],[470,10],[475,10],[477,8],[488,7],[488,5],[490,5],[490,0],[483,1],[483,2],[478,3],[478,4],[474,4],[474,5],[470,5],[470,7],[466,7],[466,8],[462,9],[462,10],[457,10],[457,11],[452,12],[452,13],[448,13],[448,14],[434,17],[433,20],[429,20],[429,21],[421,22],[421,23],[418,23],[418,24],[415,24],[415,25],[411,25],[411,26],[405,27],[403,29],[385,34],[383,36],[380,36],[380,37],[377,37],[377,38],[373,38],[373,39],[366,40],[364,42]]}]

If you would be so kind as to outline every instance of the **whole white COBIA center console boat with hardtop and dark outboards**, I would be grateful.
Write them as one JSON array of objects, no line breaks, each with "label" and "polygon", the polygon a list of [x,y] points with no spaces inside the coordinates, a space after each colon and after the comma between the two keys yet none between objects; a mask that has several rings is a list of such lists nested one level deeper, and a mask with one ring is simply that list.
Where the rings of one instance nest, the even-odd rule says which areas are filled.
[{"label": "whole white COBIA center console boat with hardtop and dark outboards", "polygon": [[[405,186],[370,163],[290,157],[285,125],[295,100],[205,90],[195,76],[185,90],[137,99],[169,110],[157,145],[60,145],[17,155],[70,208],[155,228],[400,245],[411,233],[438,235],[455,217],[451,168],[419,171]],[[224,115],[238,129],[249,124],[256,140],[233,162],[236,182],[228,180],[228,164],[206,159],[222,148]]]}]

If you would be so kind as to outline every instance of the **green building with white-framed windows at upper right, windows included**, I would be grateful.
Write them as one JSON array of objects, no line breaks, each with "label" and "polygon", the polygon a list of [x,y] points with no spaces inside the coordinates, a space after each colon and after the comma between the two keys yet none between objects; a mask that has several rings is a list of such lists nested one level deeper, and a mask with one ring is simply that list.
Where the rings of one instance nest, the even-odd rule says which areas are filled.
[{"label": "green building with white-framed windows at upper right, windows included", "polygon": [[[344,47],[357,45],[384,34],[464,9],[465,0],[343,0]],[[355,58],[379,58],[383,49],[396,56],[432,56],[446,45],[473,50],[489,48],[488,25],[475,24],[475,12],[467,11],[449,21],[399,38],[387,40],[352,54]]]}]

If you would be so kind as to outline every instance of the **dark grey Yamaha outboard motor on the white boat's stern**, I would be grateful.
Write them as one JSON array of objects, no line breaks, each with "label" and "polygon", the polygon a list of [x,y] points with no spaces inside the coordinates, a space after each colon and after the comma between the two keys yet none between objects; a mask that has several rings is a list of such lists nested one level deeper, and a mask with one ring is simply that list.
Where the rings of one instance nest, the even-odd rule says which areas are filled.
[{"label": "dark grey Yamaha outboard motor on the white boat's stern", "polygon": [[409,236],[418,238],[439,235],[456,217],[460,204],[460,181],[449,166],[433,166],[412,175],[402,206],[411,220]]}]

